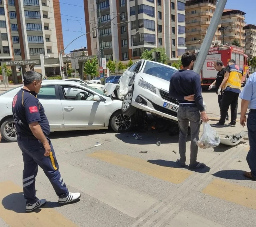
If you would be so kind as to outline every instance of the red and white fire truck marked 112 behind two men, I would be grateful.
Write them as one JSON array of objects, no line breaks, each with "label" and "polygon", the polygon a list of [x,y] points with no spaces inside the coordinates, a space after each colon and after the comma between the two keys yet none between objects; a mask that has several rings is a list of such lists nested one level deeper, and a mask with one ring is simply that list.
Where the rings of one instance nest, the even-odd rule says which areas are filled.
[{"label": "red and white fire truck marked 112 behind two men", "polygon": [[201,71],[202,87],[208,87],[215,81],[217,71],[214,68],[214,62],[216,62],[217,60],[221,60],[224,65],[227,66],[227,62],[230,59],[235,60],[236,64],[243,69],[244,73],[241,85],[245,86],[250,72],[248,66],[248,56],[244,54],[244,50],[238,46],[222,45],[213,42],[213,45],[208,51],[208,55]]}]

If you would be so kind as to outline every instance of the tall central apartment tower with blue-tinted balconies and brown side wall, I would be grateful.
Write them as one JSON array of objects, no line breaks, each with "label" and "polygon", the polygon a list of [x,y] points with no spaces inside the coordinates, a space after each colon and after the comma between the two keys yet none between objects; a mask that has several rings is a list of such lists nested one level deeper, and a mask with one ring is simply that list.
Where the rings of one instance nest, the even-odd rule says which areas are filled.
[{"label": "tall central apartment tower with blue-tinted balconies and brown side wall", "polygon": [[[184,0],[99,0],[104,56],[128,61],[163,47],[171,60],[185,50]],[[88,55],[99,54],[97,5],[84,0]]]}]

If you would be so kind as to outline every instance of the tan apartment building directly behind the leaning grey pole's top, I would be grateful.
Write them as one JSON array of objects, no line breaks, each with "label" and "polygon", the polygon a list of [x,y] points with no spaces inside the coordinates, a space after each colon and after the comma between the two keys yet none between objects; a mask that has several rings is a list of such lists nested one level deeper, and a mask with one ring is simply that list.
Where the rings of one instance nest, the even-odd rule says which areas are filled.
[{"label": "tan apartment building directly behind the leaning grey pole's top", "polygon": [[[189,51],[199,50],[211,23],[218,0],[187,0],[185,4],[186,46]],[[220,27],[220,25],[219,25]],[[214,40],[221,33],[216,31]]]}]

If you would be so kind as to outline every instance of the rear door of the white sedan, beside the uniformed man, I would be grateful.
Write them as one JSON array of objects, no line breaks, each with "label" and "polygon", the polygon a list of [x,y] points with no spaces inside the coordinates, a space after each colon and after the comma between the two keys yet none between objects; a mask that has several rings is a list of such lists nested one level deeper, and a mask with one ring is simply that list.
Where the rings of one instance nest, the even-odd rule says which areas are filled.
[{"label": "rear door of the white sedan, beside the uniformed man", "polygon": [[42,86],[37,98],[44,107],[51,131],[56,128],[64,128],[63,111],[57,85]]}]

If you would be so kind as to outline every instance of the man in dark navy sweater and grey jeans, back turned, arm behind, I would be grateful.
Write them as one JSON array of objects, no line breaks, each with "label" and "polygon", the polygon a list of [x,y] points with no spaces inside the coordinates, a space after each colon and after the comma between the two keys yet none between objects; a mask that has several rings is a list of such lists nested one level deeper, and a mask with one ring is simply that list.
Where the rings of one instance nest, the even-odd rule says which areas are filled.
[{"label": "man in dark navy sweater and grey jeans, back turned, arm behind", "polygon": [[[183,69],[175,72],[170,80],[170,97],[174,97],[179,102],[177,114],[179,124],[179,155],[177,163],[180,166],[186,164],[186,140],[188,126],[191,128],[190,145],[190,169],[203,168],[206,165],[197,162],[197,141],[199,140],[200,122],[208,122],[209,118],[203,106],[201,79],[199,74],[192,71],[196,56],[194,53],[186,52],[181,57]],[[201,114],[200,114],[201,113]]]}]

